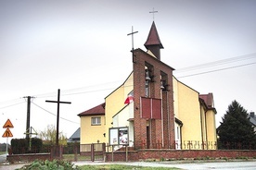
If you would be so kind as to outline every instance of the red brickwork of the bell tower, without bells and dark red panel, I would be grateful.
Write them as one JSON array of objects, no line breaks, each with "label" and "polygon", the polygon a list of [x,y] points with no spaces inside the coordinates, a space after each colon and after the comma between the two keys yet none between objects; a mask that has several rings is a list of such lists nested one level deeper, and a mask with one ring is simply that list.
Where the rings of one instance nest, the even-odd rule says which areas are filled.
[{"label": "red brickwork of the bell tower, without bells and dark red panel", "polygon": [[[154,148],[153,144],[161,142],[164,148],[170,148],[172,145],[168,142],[174,140],[174,114],[173,114],[173,68],[162,63],[159,59],[148,55],[144,51],[134,50],[134,148],[144,148],[143,143],[149,144],[146,148]],[[151,81],[149,83],[150,98],[161,98],[160,80],[165,80],[168,91],[164,93],[162,99],[162,119],[147,120],[141,118],[140,97],[145,97],[145,67],[150,70]],[[148,125],[149,124],[149,125]],[[148,139],[147,127],[149,127],[150,139]],[[163,128],[162,128],[163,126]],[[162,130],[163,129],[163,130]],[[150,140],[150,143],[143,140]]]}]

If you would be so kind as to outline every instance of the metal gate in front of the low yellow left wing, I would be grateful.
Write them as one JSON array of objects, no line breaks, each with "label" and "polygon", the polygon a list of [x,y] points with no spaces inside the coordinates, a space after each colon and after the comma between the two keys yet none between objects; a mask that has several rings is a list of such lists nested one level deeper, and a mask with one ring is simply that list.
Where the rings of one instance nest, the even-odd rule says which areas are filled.
[{"label": "metal gate in front of the low yellow left wing", "polygon": [[81,144],[80,154],[87,161],[104,161],[106,143]]}]

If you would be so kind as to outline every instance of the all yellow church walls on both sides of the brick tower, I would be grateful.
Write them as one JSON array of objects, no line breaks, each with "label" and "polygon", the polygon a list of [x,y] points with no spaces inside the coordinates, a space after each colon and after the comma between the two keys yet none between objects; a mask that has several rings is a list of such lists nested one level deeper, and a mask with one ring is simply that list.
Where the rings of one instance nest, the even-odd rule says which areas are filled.
[{"label": "all yellow church walls on both sides of the brick tower", "polygon": [[[82,144],[95,143],[97,141],[109,143],[109,128],[130,125],[127,119],[133,118],[131,117],[133,104],[131,103],[131,106],[124,108],[126,105],[124,101],[129,92],[133,90],[132,73],[118,89],[105,98],[105,115],[81,116],[81,132],[83,132],[81,133]],[[180,129],[180,140],[182,140],[182,142],[191,140],[216,141],[215,113],[213,110],[208,110],[207,113],[205,113],[205,108],[199,103],[198,91],[189,88],[186,84],[173,78],[173,99],[174,115],[183,123],[183,127]],[[119,115],[115,116],[117,113],[119,113]],[[91,125],[91,118],[96,116],[101,116],[100,126]],[[105,137],[103,135],[104,133],[106,134]],[[131,135],[130,140],[131,143],[133,143],[133,135]],[[184,146],[181,147],[182,149],[187,149],[184,148]]]}]

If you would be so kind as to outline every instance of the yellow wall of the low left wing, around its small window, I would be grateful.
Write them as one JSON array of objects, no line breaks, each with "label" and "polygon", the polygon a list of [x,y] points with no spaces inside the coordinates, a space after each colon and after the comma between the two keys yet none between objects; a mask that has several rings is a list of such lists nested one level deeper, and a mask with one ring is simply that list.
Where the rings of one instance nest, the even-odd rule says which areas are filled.
[{"label": "yellow wall of the low left wing, around its small window", "polygon": [[[100,125],[92,125],[92,117],[101,117]],[[105,142],[105,116],[104,115],[86,115],[81,116],[80,123],[80,142],[81,144],[86,143],[97,143],[97,142]]]}]

